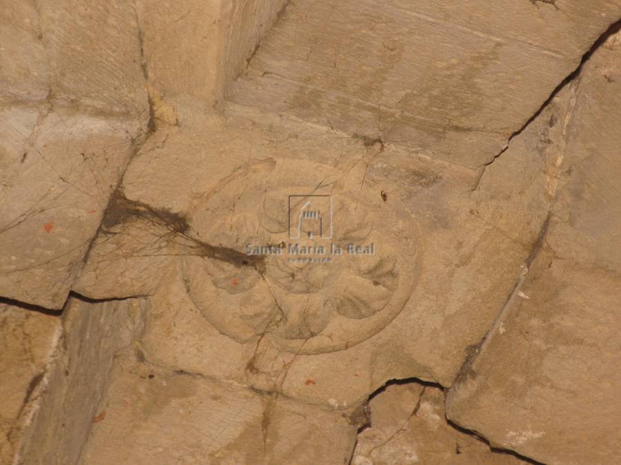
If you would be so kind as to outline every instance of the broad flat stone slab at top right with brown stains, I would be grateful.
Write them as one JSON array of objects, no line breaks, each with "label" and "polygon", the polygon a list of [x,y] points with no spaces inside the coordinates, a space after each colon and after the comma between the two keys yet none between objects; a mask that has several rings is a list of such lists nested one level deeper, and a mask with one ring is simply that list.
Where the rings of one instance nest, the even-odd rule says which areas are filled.
[{"label": "broad flat stone slab at top right with brown stains", "polygon": [[298,2],[230,99],[477,167],[620,14],[609,0]]}]

